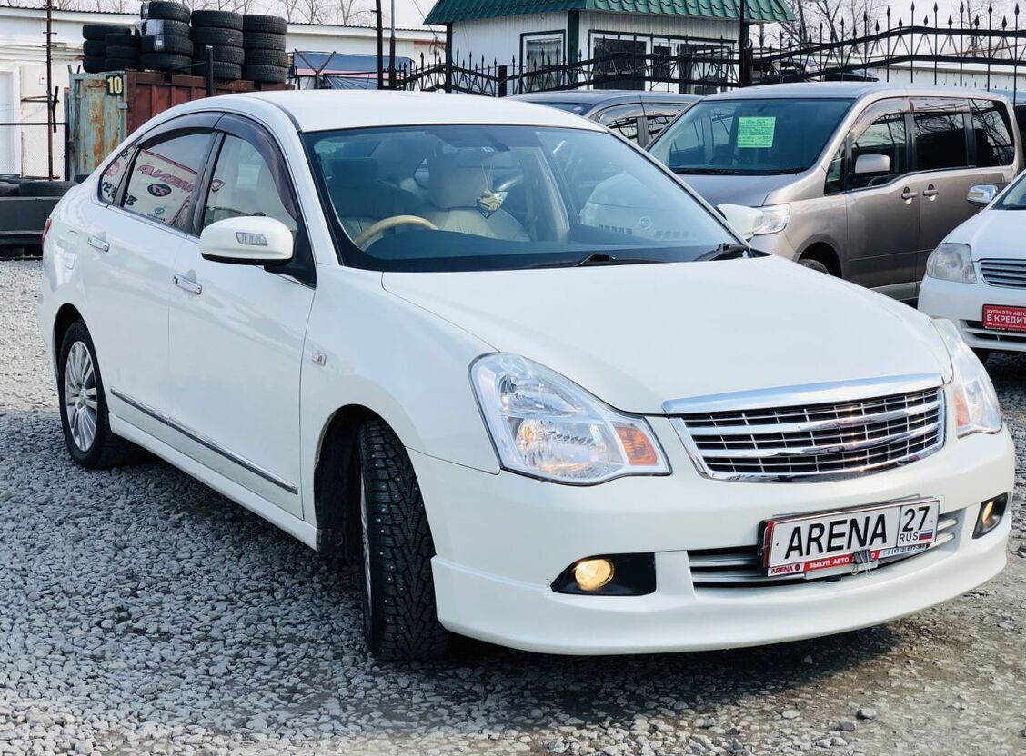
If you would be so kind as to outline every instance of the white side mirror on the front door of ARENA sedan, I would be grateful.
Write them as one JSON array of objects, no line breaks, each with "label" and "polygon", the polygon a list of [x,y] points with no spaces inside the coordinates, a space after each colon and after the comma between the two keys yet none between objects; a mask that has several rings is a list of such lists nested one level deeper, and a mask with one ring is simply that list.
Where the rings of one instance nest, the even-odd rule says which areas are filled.
[{"label": "white side mirror on the front door of ARENA sedan", "polygon": [[214,262],[268,265],[292,259],[292,233],[280,220],[262,215],[210,223],[199,237],[199,251]]}]

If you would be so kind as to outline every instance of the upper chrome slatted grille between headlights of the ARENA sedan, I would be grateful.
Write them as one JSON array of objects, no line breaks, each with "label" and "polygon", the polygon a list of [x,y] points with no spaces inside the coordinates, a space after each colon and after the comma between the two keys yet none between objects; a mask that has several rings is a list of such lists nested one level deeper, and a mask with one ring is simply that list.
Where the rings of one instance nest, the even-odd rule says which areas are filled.
[{"label": "upper chrome slatted grille between headlights of the ARENA sedan", "polygon": [[[843,384],[831,384],[782,391],[792,398],[802,393],[811,397],[800,404],[767,404],[768,393],[760,395],[759,406],[746,405],[751,394],[737,394],[738,409],[719,409],[731,403],[731,394],[667,407],[714,408],[672,413],[677,432],[708,477],[822,480],[907,464],[943,445],[941,379],[922,378],[914,390],[866,398],[815,401],[843,393]],[[854,384],[852,388],[858,390]]]}]

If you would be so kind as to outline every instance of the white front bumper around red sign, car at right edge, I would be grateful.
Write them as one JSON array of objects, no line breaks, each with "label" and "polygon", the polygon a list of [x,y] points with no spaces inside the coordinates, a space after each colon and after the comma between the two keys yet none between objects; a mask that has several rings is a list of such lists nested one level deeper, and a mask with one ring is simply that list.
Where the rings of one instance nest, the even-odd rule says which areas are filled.
[{"label": "white front bumper around red sign, car at right edge", "polygon": [[998,331],[983,327],[983,305],[1003,304],[1026,307],[1026,289],[962,284],[924,278],[919,287],[919,311],[947,318],[958,327],[965,343],[974,349],[1026,351],[1026,332]]}]

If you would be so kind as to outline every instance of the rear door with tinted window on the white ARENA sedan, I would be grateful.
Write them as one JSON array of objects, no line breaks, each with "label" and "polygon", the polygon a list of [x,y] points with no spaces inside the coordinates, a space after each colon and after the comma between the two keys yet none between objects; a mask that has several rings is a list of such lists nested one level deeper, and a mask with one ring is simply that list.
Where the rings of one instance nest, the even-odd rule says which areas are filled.
[{"label": "rear door with tinted window on the white ARENA sedan", "polygon": [[167,439],[167,301],[215,118],[171,122],[118,156],[85,240],[89,331],[115,415]]}]

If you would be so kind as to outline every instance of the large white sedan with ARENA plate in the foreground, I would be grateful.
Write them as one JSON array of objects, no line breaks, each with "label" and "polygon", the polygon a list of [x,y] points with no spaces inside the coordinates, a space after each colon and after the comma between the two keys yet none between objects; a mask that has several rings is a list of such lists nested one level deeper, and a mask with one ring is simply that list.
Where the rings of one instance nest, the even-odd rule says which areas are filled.
[{"label": "large white sedan with ARENA plate in the foreground", "polygon": [[76,461],[348,551],[382,658],[791,640],[993,577],[1013,445],[954,327],[742,236],[549,108],[239,94],[62,200],[39,323]]}]

